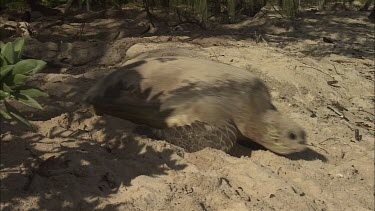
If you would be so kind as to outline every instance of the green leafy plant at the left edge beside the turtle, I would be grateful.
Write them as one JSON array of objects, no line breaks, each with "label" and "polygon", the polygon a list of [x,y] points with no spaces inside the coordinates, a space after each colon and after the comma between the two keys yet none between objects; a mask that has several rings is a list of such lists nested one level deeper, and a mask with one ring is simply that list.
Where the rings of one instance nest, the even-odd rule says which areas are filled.
[{"label": "green leafy plant at the left edge beside the turtle", "polygon": [[48,96],[40,89],[24,84],[26,79],[46,66],[46,62],[42,60],[21,59],[24,43],[23,38],[18,38],[6,44],[0,41],[0,104],[2,105],[0,115],[5,119],[15,118],[33,128],[21,112],[9,103],[10,100],[16,100],[25,105],[43,109],[34,97]]}]

